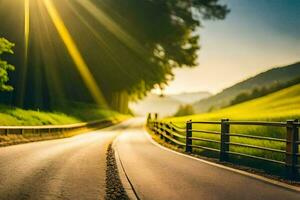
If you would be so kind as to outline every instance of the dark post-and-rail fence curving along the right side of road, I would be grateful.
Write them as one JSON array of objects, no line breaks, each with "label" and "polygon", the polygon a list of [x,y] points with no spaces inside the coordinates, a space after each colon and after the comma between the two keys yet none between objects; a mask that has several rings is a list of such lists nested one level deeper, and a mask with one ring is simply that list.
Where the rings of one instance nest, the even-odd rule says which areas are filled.
[{"label": "dark post-and-rail fence curving along the right side of road", "polygon": [[[210,130],[200,130],[194,129],[194,124],[210,124],[217,125],[220,127],[221,131],[210,131]],[[239,126],[266,126],[266,127],[281,127],[286,129],[286,138],[275,138],[275,137],[265,137],[257,135],[246,135],[240,133],[233,133],[230,131],[232,125]],[[287,176],[289,179],[297,179],[299,177],[299,127],[300,123],[298,120],[288,120],[286,122],[255,122],[255,121],[230,121],[229,119],[222,119],[220,121],[187,121],[185,127],[177,126],[172,122],[166,123],[158,121],[157,118],[151,119],[148,117],[147,127],[152,130],[155,134],[160,135],[161,139],[166,142],[175,143],[176,145],[185,148],[187,153],[191,153],[193,148],[213,151],[219,154],[220,161],[229,161],[229,155],[242,156],[256,160],[267,161],[271,163],[276,163],[284,165],[287,169]],[[195,137],[193,133],[205,133],[218,135],[219,140],[207,139],[200,137]],[[199,134],[198,134],[199,135]],[[237,138],[248,138],[263,141],[273,141],[285,144],[285,150],[275,149],[270,147],[251,145],[246,143],[231,142],[231,137]],[[210,148],[206,146],[193,144],[193,141],[203,141],[208,143],[214,143],[219,145],[219,149]],[[273,153],[279,153],[284,155],[285,161],[265,158],[262,156],[255,156],[240,152],[230,151],[230,146],[246,147],[250,149],[257,149],[262,151],[268,151]]]}]

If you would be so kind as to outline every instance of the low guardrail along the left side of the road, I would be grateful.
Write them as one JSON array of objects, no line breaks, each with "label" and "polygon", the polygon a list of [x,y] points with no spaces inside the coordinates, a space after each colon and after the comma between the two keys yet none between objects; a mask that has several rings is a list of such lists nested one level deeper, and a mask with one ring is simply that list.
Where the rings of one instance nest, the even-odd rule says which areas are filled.
[{"label": "low guardrail along the left side of the road", "polygon": [[64,132],[77,131],[83,128],[105,127],[112,125],[112,120],[98,120],[86,123],[70,125],[46,125],[46,126],[0,126],[0,135],[43,135],[43,134],[62,134]]}]

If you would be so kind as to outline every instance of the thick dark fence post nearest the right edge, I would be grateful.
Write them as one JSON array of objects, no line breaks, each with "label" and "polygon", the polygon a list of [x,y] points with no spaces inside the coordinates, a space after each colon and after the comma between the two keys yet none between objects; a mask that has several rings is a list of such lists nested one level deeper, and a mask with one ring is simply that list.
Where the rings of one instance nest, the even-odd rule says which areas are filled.
[{"label": "thick dark fence post nearest the right edge", "polygon": [[286,157],[285,164],[287,168],[287,178],[295,180],[298,176],[298,157],[299,146],[297,141],[299,140],[299,130],[295,122],[298,120],[288,120],[286,122]]}]

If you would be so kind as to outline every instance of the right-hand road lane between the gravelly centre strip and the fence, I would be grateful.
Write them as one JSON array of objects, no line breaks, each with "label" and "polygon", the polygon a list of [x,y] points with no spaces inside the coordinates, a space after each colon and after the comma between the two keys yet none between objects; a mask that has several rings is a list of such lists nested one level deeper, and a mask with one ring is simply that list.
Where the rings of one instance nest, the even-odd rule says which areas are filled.
[{"label": "right-hand road lane between the gravelly centre strip and the fence", "polygon": [[139,121],[131,124],[115,148],[140,199],[300,199],[299,192],[162,149],[150,142]]}]

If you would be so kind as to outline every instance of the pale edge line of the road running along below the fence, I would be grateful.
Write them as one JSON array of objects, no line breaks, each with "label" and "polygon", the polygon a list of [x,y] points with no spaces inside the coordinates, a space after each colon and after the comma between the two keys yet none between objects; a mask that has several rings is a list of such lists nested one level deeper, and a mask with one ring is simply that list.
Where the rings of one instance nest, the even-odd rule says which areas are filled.
[{"label": "pale edge line of the road running along below the fence", "polygon": [[288,189],[288,190],[293,191],[293,192],[300,192],[300,187],[297,187],[297,186],[292,186],[292,185],[289,185],[289,184],[286,184],[286,183],[283,183],[283,182],[280,182],[280,181],[272,180],[272,179],[269,179],[269,178],[257,175],[257,174],[251,174],[251,173],[246,172],[246,171],[242,171],[242,170],[239,170],[239,169],[231,168],[231,167],[228,167],[228,166],[224,166],[224,165],[221,165],[221,164],[210,162],[210,161],[207,161],[207,160],[204,160],[204,159],[201,159],[201,158],[197,158],[197,157],[194,157],[194,156],[190,156],[190,155],[187,155],[187,154],[184,154],[184,153],[177,152],[175,150],[169,149],[169,148],[164,147],[161,144],[157,143],[151,137],[151,135],[148,133],[148,131],[146,130],[145,127],[143,128],[143,132],[146,135],[146,137],[148,138],[148,140],[153,145],[155,145],[155,146],[157,146],[157,147],[159,147],[161,149],[164,149],[166,151],[169,151],[169,152],[172,152],[172,153],[175,153],[177,155],[184,156],[184,157],[187,157],[187,158],[190,158],[190,159],[193,159],[193,160],[197,160],[199,162],[206,163],[206,164],[211,165],[211,166],[215,166],[215,167],[219,167],[219,168],[222,168],[222,169],[226,169],[226,170],[238,173],[240,175],[247,176],[247,177],[250,177],[250,178],[262,181],[264,183],[269,183],[269,184],[275,185],[277,187]]}]

